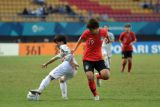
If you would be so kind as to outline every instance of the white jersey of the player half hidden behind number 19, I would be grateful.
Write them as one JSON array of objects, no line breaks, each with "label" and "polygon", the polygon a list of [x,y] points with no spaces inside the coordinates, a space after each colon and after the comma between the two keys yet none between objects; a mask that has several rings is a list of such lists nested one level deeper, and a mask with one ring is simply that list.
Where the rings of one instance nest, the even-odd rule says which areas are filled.
[{"label": "white jersey of the player half hidden behind number 19", "polygon": [[107,55],[108,57],[112,56],[112,42],[114,41],[114,35],[111,32],[108,32],[110,43],[107,43],[106,40],[102,44],[102,54]]}]

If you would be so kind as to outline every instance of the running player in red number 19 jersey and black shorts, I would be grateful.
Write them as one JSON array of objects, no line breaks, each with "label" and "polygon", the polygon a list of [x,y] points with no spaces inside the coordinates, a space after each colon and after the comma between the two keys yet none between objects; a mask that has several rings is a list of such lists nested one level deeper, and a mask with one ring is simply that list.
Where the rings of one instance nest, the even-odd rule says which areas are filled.
[{"label": "running player in red number 19 jersey and black shorts", "polygon": [[83,67],[88,79],[89,88],[94,95],[94,100],[99,100],[99,95],[94,82],[94,69],[98,71],[95,74],[97,85],[100,85],[100,80],[108,80],[110,76],[109,69],[105,66],[102,58],[102,42],[106,38],[108,40],[108,32],[105,29],[99,28],[99,23],[96,19],[90,19],[87,24],[87,30],[83,32],[79,38],[73,53],[77,50],[82,41],[85,41],[86,47],[83,54]]}]

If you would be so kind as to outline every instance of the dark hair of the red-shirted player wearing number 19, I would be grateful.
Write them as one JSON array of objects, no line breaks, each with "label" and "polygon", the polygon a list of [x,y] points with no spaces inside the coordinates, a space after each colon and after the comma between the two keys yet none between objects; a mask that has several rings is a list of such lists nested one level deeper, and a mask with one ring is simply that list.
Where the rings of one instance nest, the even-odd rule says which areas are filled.
[{"label": "dark hair of the red-shirted player wearing number 19", "polygon": [[98,21],[96,19],[90,19],[87,23],[87,28],[90,30],[99,28]]}]

